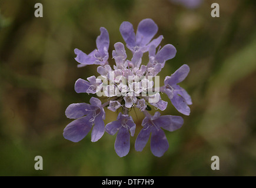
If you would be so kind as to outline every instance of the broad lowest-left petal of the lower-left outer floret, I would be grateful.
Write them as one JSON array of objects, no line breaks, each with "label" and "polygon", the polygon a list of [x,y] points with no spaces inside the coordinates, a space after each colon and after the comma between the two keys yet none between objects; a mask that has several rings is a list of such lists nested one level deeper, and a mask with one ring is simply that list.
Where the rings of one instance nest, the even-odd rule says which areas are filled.
[{"label": "broad lowest-left petal of the lower-left outer floret", "polygon": [[63,136],[65,139],[70,140],[72,142],[79,142],[85,136],[87,136],[88,132],[92,128],[92,123],[89,122],[91,116],[81,117],[69,123],[63,132]]}]

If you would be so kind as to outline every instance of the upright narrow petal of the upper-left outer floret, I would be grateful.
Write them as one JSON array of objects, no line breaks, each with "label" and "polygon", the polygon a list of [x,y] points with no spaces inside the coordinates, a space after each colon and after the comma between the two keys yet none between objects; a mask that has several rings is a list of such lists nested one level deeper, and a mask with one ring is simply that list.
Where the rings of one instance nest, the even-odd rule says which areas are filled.
[{"label": "upright narrow petal of the upper-left outer floret", "polygon": [[[106,55],[108,48],[109,48],[109,36],[108,36],[108,31],[107,29],[101,27],[99,29],[101,31],[101,35],[99,35],[96,39],[96,45],[99,50],[99,53],[101,55]],[[104,57],[102,56],[102,58]]]}]

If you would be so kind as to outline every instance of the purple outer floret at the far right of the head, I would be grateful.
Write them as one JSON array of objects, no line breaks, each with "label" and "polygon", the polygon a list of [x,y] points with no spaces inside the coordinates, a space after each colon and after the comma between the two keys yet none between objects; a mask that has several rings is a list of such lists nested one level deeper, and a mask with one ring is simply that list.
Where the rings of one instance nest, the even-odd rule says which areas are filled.
[{"label": "purple outer floret at the far right of the head", "polygon": [[161,91],[168,95],[168,98],[171,99],[172,105],[184,115],[189,115],[190,108],[188,105],[192,105],[191,97],[177,85],[177,83],[182,82],[188,75],[189,66],[182,65],[178,70],[176,70],[171,76],[166,76],[164,80],[164,89]]}]

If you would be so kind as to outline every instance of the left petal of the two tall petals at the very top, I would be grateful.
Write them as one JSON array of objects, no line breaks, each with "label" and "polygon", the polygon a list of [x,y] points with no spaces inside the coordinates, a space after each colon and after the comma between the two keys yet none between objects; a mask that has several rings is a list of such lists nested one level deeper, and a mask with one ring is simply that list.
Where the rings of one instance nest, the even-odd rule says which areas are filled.
[{"label": "left petal of the two tall petals at the very top", "polygon": [[124,41],[128,46],[135,46],[135,33],[134,27],[130,22],[122,22],[120,25],[119,31],[124,38]]}]

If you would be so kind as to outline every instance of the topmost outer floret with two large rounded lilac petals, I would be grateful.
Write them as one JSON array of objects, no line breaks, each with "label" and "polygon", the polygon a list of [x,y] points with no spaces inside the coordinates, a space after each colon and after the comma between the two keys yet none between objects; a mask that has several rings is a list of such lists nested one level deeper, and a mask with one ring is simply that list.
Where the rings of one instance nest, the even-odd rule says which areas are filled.
[{"label": "topmost outer floret with two large rounded lilac petals", "polygon": [[160,35],[157,39],[152,40],[158,31],[158,26],[149,18],[139,22],[136,35],[130,22],[122,22],[119,31],[121,32],[122,38],[124,38],[124,41],[127,43],[127,48],[132,52],[147,52],[149,46],[158,46],[163,38],[162,35]]}]

